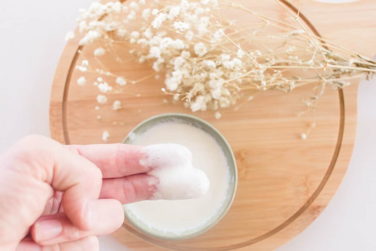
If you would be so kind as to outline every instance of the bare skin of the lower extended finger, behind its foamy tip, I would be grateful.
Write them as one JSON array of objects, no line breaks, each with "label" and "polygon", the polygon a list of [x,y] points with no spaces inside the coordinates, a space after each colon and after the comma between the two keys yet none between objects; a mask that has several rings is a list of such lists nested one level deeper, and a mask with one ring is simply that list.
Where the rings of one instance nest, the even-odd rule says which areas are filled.
[{"label": "bare skin of the lower extended finger, behind its foamy tip", "polygon": [[122,178],[104,179],[99,198],[117,199],[121,204],[153,198],[158,178],[144,173]]}]

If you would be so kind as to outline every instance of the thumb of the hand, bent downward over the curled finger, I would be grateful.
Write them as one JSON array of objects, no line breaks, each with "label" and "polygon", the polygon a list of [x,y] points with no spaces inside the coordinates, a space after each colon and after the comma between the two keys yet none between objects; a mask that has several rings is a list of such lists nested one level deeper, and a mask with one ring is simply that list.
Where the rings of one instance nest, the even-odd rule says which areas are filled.
[{"label": "thumb of the hand, bent downward over the curled finger", "polygon": [[[98,199],[102,186],[102,172],[95,164],[77,151],[71,151],[54,140],[36,135],[25,137],[15,144],[11,155],[17,160],[12,168],[21,173],[27,172],[36,182],[49,183],[55,190],[64,192],[62,205],[74,225],[82,230],[89,230],[97,224],[96,219],[91,217],[91,211],[95,208],[89,204],[90,201]],[[35,197],[29,196],[30,199],[37,201],[45,194],[33,196]],[[39,215],[50,198],[44,198]]]}]

